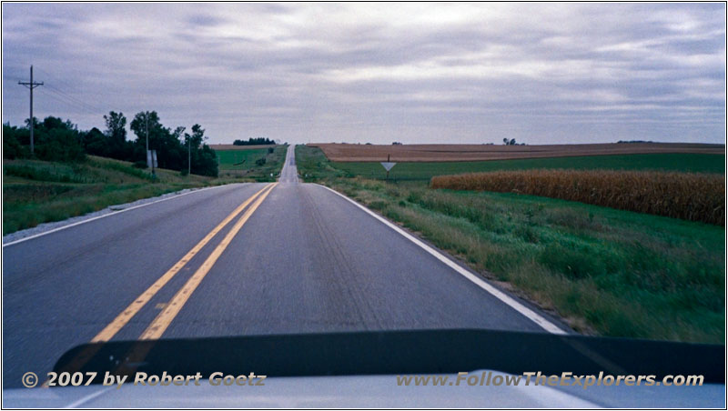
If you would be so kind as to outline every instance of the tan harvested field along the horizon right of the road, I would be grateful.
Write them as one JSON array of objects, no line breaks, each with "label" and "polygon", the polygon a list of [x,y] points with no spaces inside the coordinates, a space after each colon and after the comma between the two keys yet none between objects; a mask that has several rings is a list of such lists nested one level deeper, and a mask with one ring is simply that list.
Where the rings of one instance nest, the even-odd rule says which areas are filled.
[{"label": "tan harvested field along the horizon right of the road", "polygon": [[[330,161],[440,162],[508,160],[514,158],[575,155],[628,155],[652,153],[724,154],[725,145],[693,143],[611,143],[592,145],[350,145],[309,144],[319,147]],[[213,146],[213,148],[215,148]]]}]

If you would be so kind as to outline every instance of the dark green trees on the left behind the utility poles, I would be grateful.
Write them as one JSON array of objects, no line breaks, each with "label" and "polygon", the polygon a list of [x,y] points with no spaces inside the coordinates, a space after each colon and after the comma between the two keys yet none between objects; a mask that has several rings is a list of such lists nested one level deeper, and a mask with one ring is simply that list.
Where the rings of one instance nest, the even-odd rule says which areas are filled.
[{"label": "dark green trees on the left behind the utility poles", "polygon": [[[156,111],[136,113],[129,124],[135,140],[126,139],[126,116],[114,111],[104,115],[103,132],[96,127],[79,131],[70,120],[54,116],[33,121],[35,157],[40,160],[74,163],[84,161],[86,155],[99,155],[145,168],[148,134],[149,149],[157,150],[159,167],[187,173],[189,146],[192,174],[217,176],[217,155],[205,144],[208,137],[202,126],[193,125],[190,133],[184,126],[172,130],[162,125]],[[3,158],[31,157],[29,125],[29,120],[25,120],[25,127],[3,125]]]}]

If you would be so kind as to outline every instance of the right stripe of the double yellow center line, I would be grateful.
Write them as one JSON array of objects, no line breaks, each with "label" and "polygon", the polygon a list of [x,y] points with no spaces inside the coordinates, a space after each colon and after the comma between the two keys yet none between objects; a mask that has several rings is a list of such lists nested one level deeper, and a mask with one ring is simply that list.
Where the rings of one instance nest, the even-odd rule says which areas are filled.
[{"label": "right stripe of the double yellow center line", "polygon": [[157,318],[154,319],[152,324],[147,327],[144,333],[142,333],[142,335],[139,337],[140,340],[154,340],[158,339],[162,336],[162,334],[164,334],[165,330],[167,330],[167,327],[172,323],[172,320],[175,319],[175,316],[177,316],[179,311],[182,309],[182,306],[185,306],[185,303],[187,303],[187,299],[189,298],[189,296],[192,296],[192,293],[195,292],[195,289],[202,282],[202,279],[207,276],[207,273],[210,271],[212,266],[215,265],[215,263],[217,262],[217,258],[222,255],[223,251],[225,251],[233,238],[238,234],[240,228],[242,228],[243,225],[248,221],[248,218],[250,218],[250,216],[255,213],[256,209],[258,209],[258,206],[263,203],[263,200],[266,199],[266,197],[268,196],[268,194],[270,194],[275,185],[278,185],[278,183],[274,183],[270,186],[270,189],[268,189],[266,193],[260,195],[256,202],[253,204],[253,206],[250,206],[250,208],[248,208],[248,211],[246,211],[245,214],[240,217],[235,226],[230,228],[227,236],[222,239],[222,241],[220,242],[220,244],[217,245],[212,254],[207,257],[207,260],[202,263],[202,266],[197,268],[195,274],[191,276],[189,280],[187,280],[187,284],[185,284],[185,286],[177,291],[177,294],[172,298],[169,304],[167,304],[167,307],[164,309],[164,311],[159,313],[159,315],[157,316]]}]

